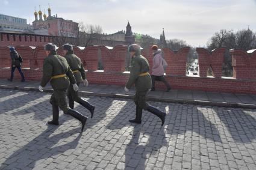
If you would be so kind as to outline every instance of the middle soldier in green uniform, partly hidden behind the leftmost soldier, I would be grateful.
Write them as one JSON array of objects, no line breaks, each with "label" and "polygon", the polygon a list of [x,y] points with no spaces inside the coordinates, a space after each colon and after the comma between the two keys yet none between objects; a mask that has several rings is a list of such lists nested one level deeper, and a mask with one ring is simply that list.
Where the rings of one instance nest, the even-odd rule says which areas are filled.
[{"label": "middle soldier in green uniform, partly hidden behind the leftmost soldier", "polygon": [[[67,63],[69,64],[70,69],[73,72],[73,75],[76,79],[76,84],[79,86],[81,82],[87,87],[89,82],[86,79],[86,71],[84,71],[84,65],[81,62],[81,59],[78,58],[73,52],[73,46],[71,44],[63,45],[64,58],[66,58]],[[93,117],[95,106],[91,105],[86,100],[78,96],[78,91],[73,90],[72,85],[69,85],[67,89],[67,97],[69,98],[69,107],[73,109],[74,101],[84,106],[91,113],[91,118]]]}]

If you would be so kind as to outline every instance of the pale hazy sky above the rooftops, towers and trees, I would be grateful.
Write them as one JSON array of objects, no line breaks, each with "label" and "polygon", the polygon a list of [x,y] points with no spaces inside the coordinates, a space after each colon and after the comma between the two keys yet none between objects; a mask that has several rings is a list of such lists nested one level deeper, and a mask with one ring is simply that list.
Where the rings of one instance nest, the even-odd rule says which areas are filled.
[{"label": "pale hazy sky above the rooftops, towers and trees", "polygon": [[204,46],[222,28],[249,27],[256,32],[256,0],[0,0],[0,13],[34,20],[34,7],[75,22],[101,25],[108,34],[125,29],[159,38],[180,38],[192,46]]}]

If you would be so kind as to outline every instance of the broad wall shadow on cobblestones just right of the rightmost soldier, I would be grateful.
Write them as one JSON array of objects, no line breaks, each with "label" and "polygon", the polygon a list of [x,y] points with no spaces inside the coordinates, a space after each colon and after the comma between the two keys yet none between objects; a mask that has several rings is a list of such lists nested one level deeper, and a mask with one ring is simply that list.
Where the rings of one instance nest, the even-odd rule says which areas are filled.
[{"label": "broad wall shadow on cobblestones just right of the rightmost soldier", "polygon": [[[215,124],[211,122],[215,121],[212,117],[213,114],[208,114],[208,109],[205,106],[193,106],[193,105],[169,105],[170,114],[167,115],[167,133],[170,135],[178,135],[189,132],[190,138],[195,136],[195,133],[202,136],[204,139],[210,139],[214,142],[221,142],[219,131]],[[184,107],[186,107],[184,112]],[[202,108],[204,107],[204,108]],[[202,112],[205,109],[207,112]],[[169,123],[168,123],[169,122]]]}]

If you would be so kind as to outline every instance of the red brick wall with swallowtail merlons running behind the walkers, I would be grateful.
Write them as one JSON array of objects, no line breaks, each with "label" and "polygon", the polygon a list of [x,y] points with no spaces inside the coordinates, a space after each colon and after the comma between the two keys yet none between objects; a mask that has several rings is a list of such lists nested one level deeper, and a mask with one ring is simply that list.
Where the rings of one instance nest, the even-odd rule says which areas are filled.
[{"label": "red brick wall with swallowtail merlons running behind the walkers", "polygon": [[[42,63],[45,58],[43,46],[37,46],[36,49],[31,47],[17,46],[16,49],[22,54],[25,60],[30,62],[30,68],[23,69],[25,76],[30,80],[40,80],[42,77]],[[125,85],[129,74],[125,71],[125,57],[127,55],[127,46],[116,46],[114,49],[107,49],[102,46],[90,46],[84,50],[74,47],[84,63],[87,63],[87,78],[91,83]],[[104,71],[96,71],[98,67],[98,50],[101,49]],[[59,49],[61,52],[61,49]],[[186,73],[186,58],[189,48],[185,47],[178,52],[164,48],[164,58],[168,63],[166,79],[176,89],[186,90],[205,90],[219,91],[226,93],[251,93],[256,94],[256,50],[252,53],[243,52],[242,50],[231,50],[233,57],[234,77],[225,79],[221,76],[221,65],[225,48],[216,49],[208,52],[205,49],[196,49],[199,55],[200,77],[188,77]],[[149,62],[152,61],[152,51],[145,49],[142,52]],[[0,77],[7,78],[10,76],[10,56],[8,47],[0,47]],[[152,65],[152,64],[151,64]],[[207,68],[213,67],[214,77],[206,77]],[[16,78],[20,78],[16,71]],[[164,88],[163,83],[157,82],[157,87]]]}]

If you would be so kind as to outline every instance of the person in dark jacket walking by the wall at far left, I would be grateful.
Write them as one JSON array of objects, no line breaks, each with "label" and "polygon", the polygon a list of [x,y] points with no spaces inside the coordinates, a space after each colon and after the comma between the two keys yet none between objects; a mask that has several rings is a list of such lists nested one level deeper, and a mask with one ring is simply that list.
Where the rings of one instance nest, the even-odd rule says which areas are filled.
[{"label": "person in dark jacket walking by the wall at far left", "polygon": [[17,51],[14,49],[14,47],[10,47],[10,57],[11,57],[11,77],[8,80],[10,82],[13,81],[13,74],[14,74],[15,68],[17,68],[21,76],[21,81],[25,82],[25,76],[21,70],[21,63],[23,60],[22,60],[22,57],[19,55],[19,53],[17,53]]}]

